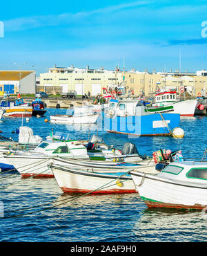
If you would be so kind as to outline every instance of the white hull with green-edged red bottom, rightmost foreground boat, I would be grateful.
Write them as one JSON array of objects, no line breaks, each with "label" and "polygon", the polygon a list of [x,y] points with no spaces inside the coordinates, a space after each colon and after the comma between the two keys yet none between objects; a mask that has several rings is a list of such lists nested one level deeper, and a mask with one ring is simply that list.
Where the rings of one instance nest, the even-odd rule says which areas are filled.
[{"label": "white hull with green-edged red bottom, rightmost foreground boat", "polygon": [[139,172],[130,174],[136,191],[149,208],[203,209],[207,206],[207,187]]}]

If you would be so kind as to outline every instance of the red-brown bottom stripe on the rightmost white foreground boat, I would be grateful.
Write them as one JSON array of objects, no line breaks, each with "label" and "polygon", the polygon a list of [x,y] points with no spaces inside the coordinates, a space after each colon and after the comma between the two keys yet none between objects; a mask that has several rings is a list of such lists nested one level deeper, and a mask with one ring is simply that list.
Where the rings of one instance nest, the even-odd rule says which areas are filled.
[{"label": "red-brown bottom stripe on the rightmost white foreground boat", "polygon": [[183,204],[175,204],[175,203],[161,203],[161,202],[153,202],[153,201],[144,201],[148,208],[175,208],[175,209],[195,209],[202,210],[206,207],[206,205],[183,205]]}]

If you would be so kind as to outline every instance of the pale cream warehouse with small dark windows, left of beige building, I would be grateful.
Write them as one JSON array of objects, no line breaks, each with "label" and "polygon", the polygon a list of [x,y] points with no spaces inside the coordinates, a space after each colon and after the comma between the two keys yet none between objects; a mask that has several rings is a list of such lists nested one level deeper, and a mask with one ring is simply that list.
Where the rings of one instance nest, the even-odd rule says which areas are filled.
[{"label": "pale cream warehouse with small dark windows, left of beige building", "polygon": [[54,67],[49,68],[47,73],[41,73],[39,77],[38,91],[46,93],[66,93],[74,90],[77,95],[97,95],[106,91],[113,84],[121,84],[123,74],[121,71],[108,71],[103,67],[100,69]]}]

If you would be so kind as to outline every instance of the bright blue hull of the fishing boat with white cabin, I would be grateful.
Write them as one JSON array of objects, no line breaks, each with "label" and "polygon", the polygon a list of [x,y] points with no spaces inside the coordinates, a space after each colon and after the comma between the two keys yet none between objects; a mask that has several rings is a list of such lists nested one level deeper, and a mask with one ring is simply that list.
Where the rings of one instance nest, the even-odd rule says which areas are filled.
[{"label": "bright blue hull of the fishing boat with white cabin", "polygon": [[[163,113],[164,120],[169,120],[168,123],[171,129],[179,127],[180,115],[177,113]],[[170,131],[167,127],[153,127],[154,121],[161,121],[159,113],[153,113],[146,116],[127,116],[108,118],[103,113],[104,127],[107,131],[115,131],[123,134],[136,134],[141,136],[146,135],[161,135],[168,134]]]}]

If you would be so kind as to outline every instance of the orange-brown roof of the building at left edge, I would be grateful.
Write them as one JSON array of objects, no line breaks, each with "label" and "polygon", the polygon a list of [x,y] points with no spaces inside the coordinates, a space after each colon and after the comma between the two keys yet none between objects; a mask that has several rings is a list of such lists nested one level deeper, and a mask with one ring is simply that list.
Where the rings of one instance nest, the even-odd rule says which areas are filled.
[{"label": "orange-brown roof of the building at left edge", "polygon": [[0,71],[0,80],[19,81],[20,79],[30,75],[33,71]]}]

